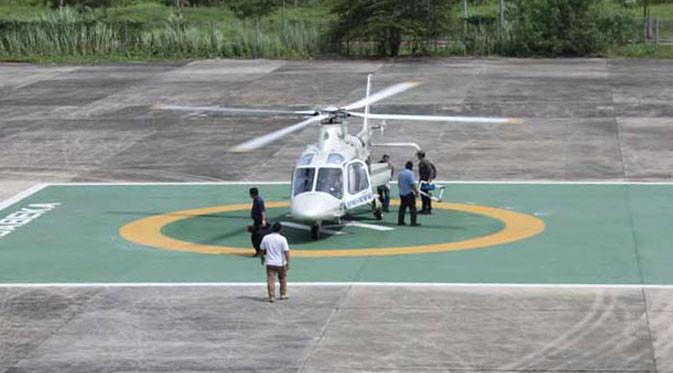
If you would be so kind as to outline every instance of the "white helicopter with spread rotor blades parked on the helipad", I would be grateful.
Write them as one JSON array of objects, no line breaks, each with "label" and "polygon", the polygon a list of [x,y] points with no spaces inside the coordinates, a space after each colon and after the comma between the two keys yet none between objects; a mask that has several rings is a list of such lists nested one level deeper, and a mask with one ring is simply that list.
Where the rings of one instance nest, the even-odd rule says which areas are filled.
[{"label": "white helicopter with spread rotor blades parked on the helipad", "polygon": [[[376,190],[390,182],[392,172],[387,163],[371,163],[373,146],[415,146],[413,143],[373,144],[373,129],[383,128],[386,120],[434,121],[462,123],[520,123],[516,118],[488,118],[436,115],[373,114],[370,105],[390,96],[418,86],[419,82],[395,84],[370,95],[371,74],[367,76],[365,98],[349,105],[330,106],[322,110],[283,111],[220,106],[178,106],[155,105],[155,109],[187,111],[195,113],[228,114],[289,114],[308,117],[292,126],[252,139],[230,149],[231,152],[248,152],[263,147],[273,141],[300,131],[308,126],[320,124],[318,142],[308,145],[301,154],[292,174],[290,215],[294,220],[308,223],[311,236],[318,239],[321,224],[337,221],[349,211],[365,206],[374,206],[377,219],[381,218],[380,204],[377,204]],[[363,109],[363,112],[353,111]],[[356,135],[348,130],[349,117],[362,118],[362,128]],[[370,120],[382,120],[372,126]],[[420,148],[418,148],[420,149]],[[295,224],[296,226],[296,224]]]}]

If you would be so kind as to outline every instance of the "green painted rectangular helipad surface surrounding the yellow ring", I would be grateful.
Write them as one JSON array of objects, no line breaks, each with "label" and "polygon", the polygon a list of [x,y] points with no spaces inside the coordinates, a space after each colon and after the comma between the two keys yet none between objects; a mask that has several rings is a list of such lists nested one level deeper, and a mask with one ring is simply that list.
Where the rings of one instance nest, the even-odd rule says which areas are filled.
[{"label": "green painted rectangular helipad surface surrounding the yellow ring", "polygon": [[[141,219],[229,206],[230,211],[180,216],[160,233],[199,247],[252,253],[245,231],[248,211],[231,208],[249,204],[249,186],[48,186],[0,210],[0,282],[263,281],[259,261],[250,257],[174,251],[120,236],[122,227]],[[257,186],[269,205],[288,199],[287,185]],[[353,220],[392,230],[347,226],[338,230],[341,234],[312,241],[307,232],[287,229],[297,253],[367,250],[361,256],[296,257],[291,280],[673,284],[673,185],[449,184],[445,197],[450,204],[522,213],[544,222],[544,230],[506,244],[414,253],[415,247],[489,237],[509,223],[446,205],[421,216],[422,227],[397,227],[396,207],[383,222],[363,210]],[[269,214],[287,220],[285,207],[269,208]],[[411,253],[377,255],[395,247]]]}]

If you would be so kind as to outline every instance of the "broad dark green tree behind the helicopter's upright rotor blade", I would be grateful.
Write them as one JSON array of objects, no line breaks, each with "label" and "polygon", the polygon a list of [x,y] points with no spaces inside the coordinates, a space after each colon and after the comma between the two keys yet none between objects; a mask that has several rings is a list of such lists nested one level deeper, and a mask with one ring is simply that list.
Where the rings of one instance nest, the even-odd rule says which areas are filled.
[{"label": "broad dark green tree behind the helicopter's upright rotor blade", "polygon": [[337,0],[332,9],[339,21],[338,42],[374,40],[381,56],[398,56],[403,37],[423,42],[444,33],[453,0]]}]

